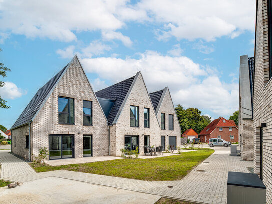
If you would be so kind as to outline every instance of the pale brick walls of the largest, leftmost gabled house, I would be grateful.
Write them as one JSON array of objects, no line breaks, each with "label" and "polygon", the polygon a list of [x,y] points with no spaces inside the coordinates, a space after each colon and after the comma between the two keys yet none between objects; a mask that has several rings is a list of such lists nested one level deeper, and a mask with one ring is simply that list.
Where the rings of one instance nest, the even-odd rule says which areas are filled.
[{"label": "pale brick walls of the largest, leftmost gabled house", "polygon": [[[58,122],[58,96],[74,98],[74,124],[64,125]],[[83,125],[83,101],[92,101],[93,125]],[[108,155],[108,125],[88,79],[75,57],[59,83],[31,123],[31,160],[34,160],[41,147],[49,148],[49,134],[70,134],[74,136],[74,157],[83,157],[83,135],[93,137],[93,156]],[[22,157],[28,155],[24,150],[28,125],[12,130],[12,141],[16,136],[16,147],[12,152]],[[21,144],[19,144],[19,142]],[[14,145],[14,144],[12,144]]]}]

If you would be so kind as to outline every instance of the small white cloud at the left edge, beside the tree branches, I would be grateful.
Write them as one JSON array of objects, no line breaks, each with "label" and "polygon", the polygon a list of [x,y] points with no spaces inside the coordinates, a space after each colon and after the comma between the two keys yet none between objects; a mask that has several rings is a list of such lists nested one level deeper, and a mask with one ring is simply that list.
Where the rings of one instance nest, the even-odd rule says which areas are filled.
[{"label": "small white cloud at the left edge, beside the tree branches", "polygon": [[27,91],[22,90],[12,82],[5,82],[4,87],[0,87],[0,96],[4,99],[15,99],[25,95]]}]

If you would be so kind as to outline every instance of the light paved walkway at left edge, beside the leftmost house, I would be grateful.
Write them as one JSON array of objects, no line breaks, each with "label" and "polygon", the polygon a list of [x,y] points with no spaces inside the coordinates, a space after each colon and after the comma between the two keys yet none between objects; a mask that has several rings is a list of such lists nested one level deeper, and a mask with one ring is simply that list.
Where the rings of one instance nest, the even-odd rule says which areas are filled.
[{"label": "light paved walkway at left edge, beside the leftmost house", "polygon": [[10,154],[11,150],[0,150],[0,179],[12,176],[37,174],[28,163]]}]

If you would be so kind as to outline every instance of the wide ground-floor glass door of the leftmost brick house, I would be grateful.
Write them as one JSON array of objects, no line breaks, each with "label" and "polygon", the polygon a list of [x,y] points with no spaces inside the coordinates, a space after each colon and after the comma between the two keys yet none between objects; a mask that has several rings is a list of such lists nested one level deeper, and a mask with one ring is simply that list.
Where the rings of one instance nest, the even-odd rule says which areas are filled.
[{"label": "wide ground-floor glass door of the leftmost brick house", "polygon": [[49,159],[63,159],[73,157],[73,135],[49,135]]}]

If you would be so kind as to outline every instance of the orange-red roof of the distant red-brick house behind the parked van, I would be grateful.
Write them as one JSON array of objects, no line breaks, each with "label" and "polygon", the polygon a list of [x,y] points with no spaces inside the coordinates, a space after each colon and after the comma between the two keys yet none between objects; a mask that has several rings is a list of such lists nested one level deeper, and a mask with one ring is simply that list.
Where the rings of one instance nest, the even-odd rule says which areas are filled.
[{"label": "orange-red roof of the distant red-brick house behind the parked van", "polygon": [[[225,122],[224,122],[225,121]],[[212,131],[216,128],[216,127],[237,127],[237,125],[235,125],[235,122],[233,120],[227,120],[225,118],[217,118],[215,120],[213,120],[209,125],[207,125],[200,133],[199,135],[209,135],[212,133]]]}]

